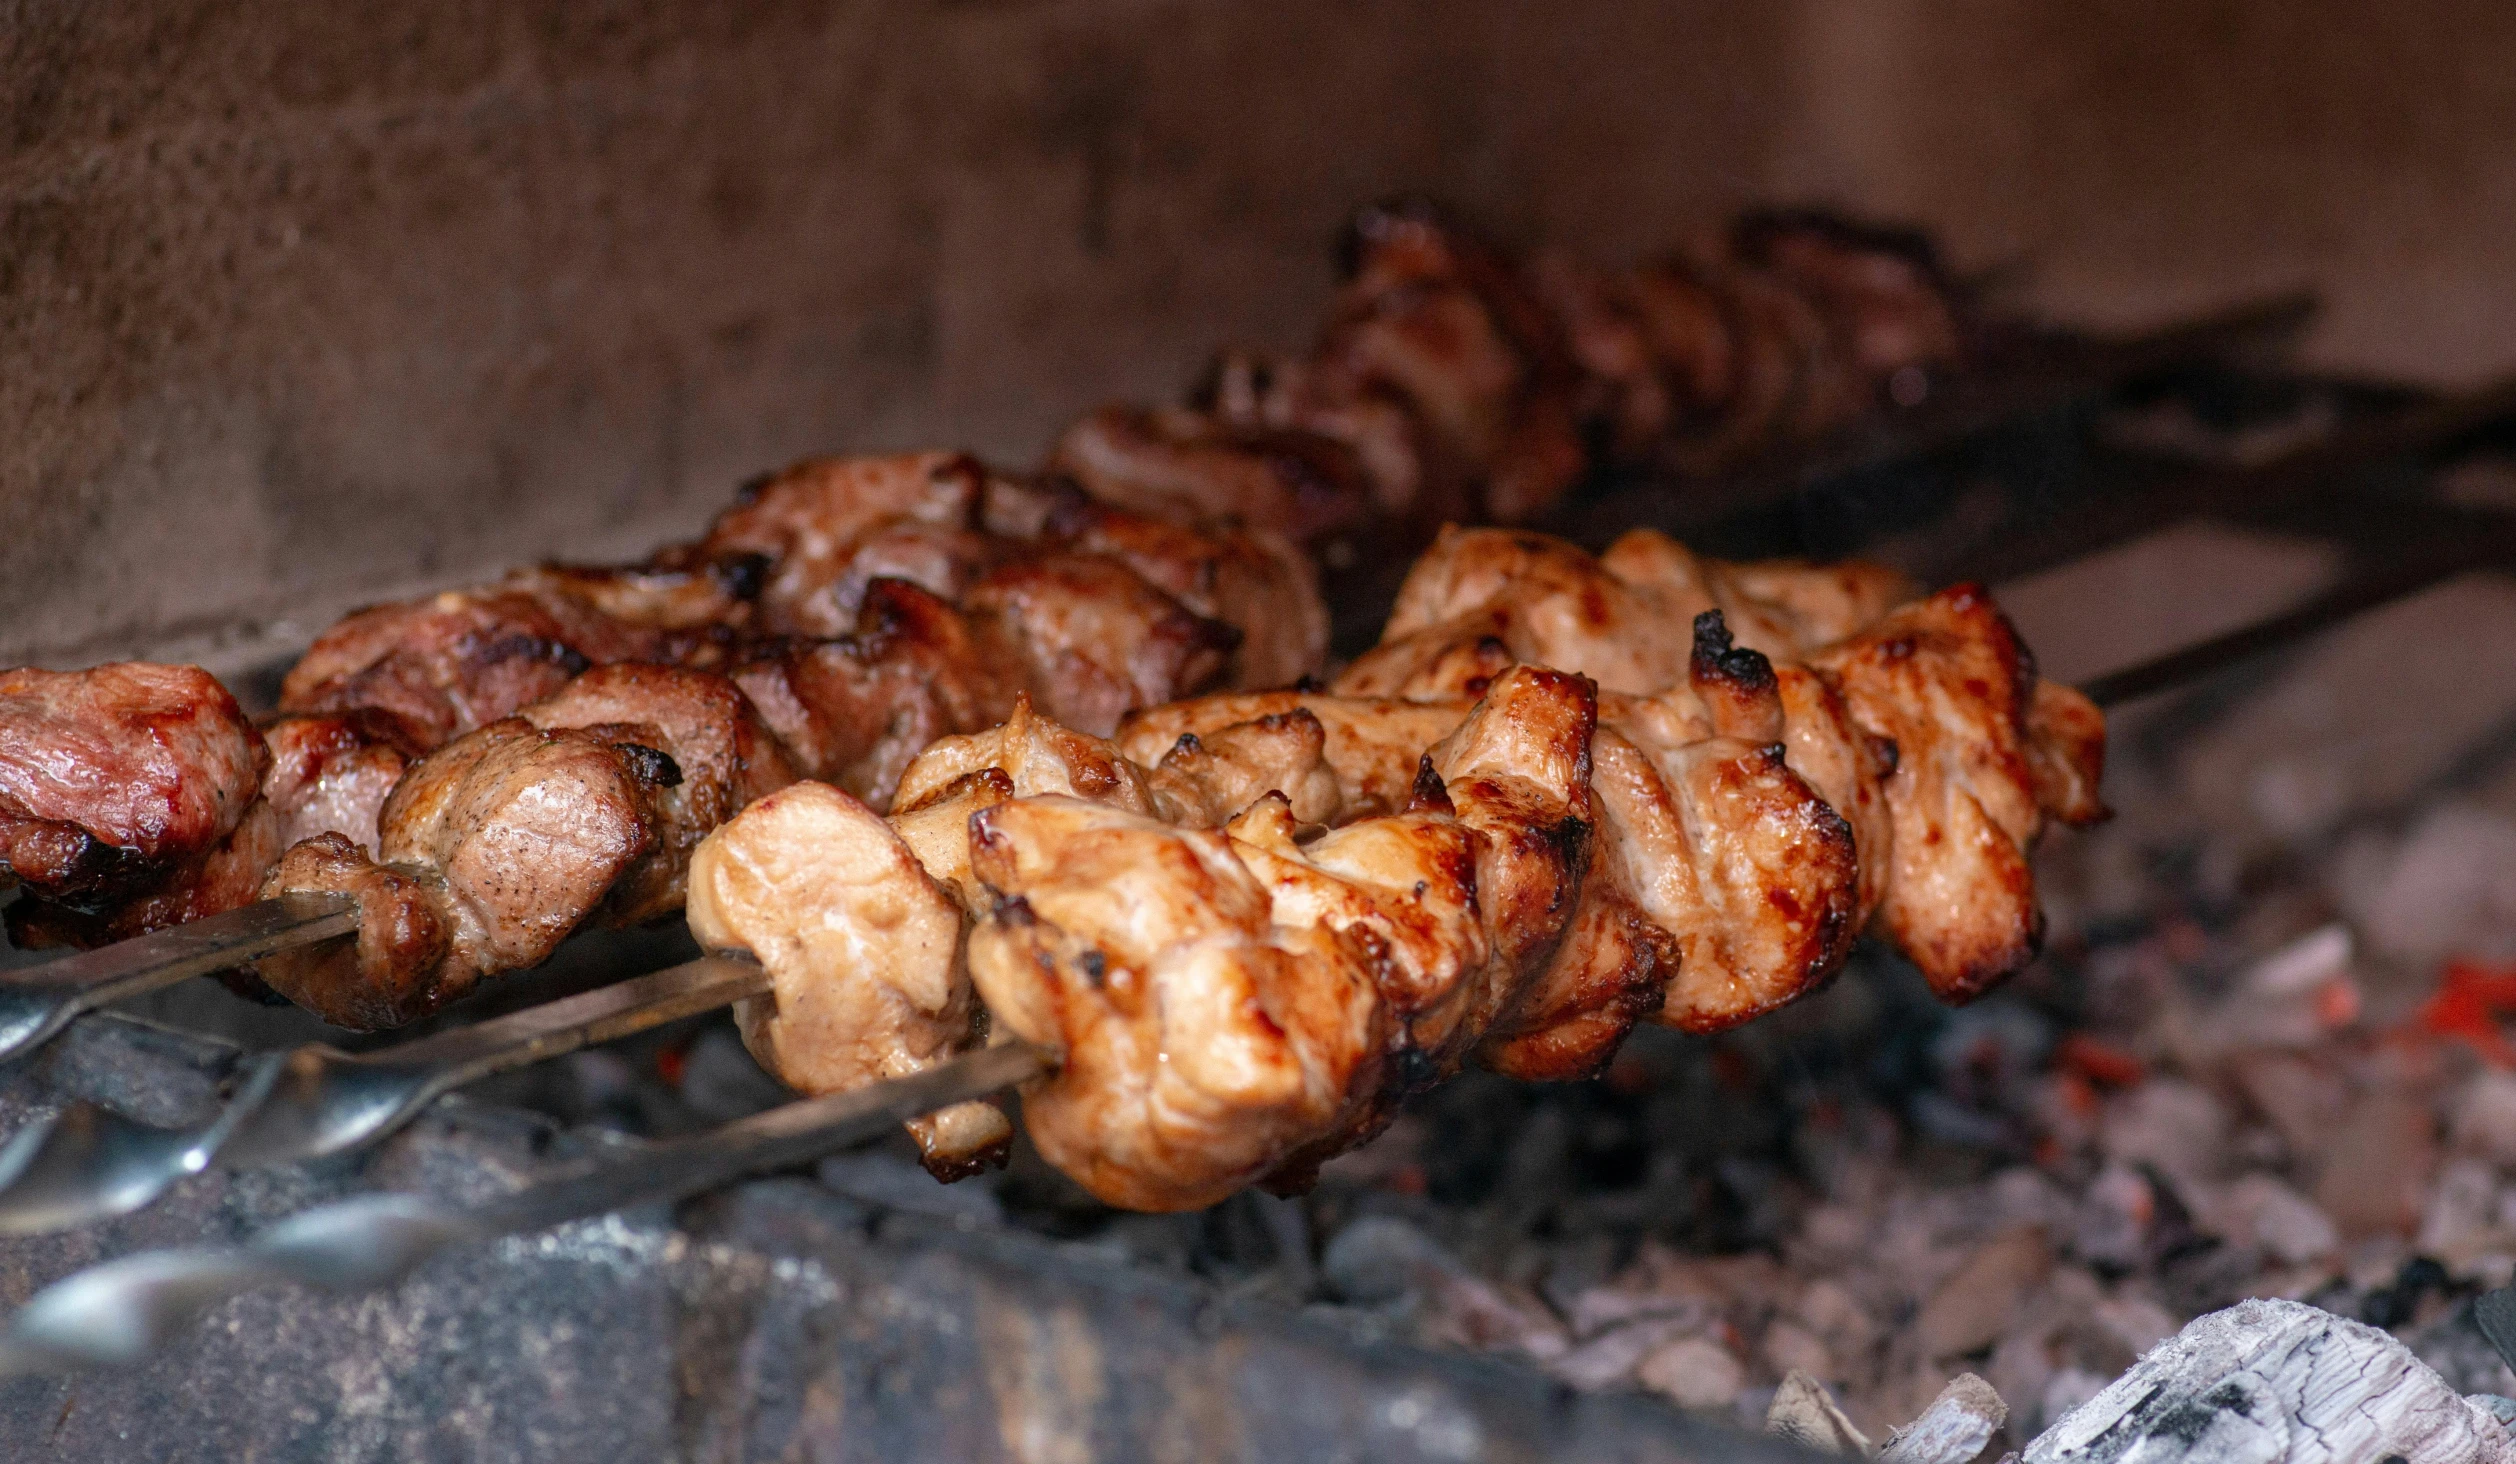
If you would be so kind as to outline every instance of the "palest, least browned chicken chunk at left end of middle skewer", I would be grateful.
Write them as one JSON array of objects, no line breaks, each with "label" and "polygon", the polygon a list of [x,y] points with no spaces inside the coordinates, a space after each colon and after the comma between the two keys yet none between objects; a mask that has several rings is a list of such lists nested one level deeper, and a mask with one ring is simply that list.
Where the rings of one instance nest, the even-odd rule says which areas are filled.
[{"label": "palest, least browned chicken chunk at left end of middle skewer", "polygon": [[[752,1056],[798,1092],[908,1077],[976,1041],[959,896],[873,810],[823,782],[762,797],[699,845],[689,928],[704,948],[747,951],[767,968],[770,994],[735,1019]],[[1014,1140],[994,1102],[954,1104],[908,1132],[938,1180],[1001,1162]]]}]

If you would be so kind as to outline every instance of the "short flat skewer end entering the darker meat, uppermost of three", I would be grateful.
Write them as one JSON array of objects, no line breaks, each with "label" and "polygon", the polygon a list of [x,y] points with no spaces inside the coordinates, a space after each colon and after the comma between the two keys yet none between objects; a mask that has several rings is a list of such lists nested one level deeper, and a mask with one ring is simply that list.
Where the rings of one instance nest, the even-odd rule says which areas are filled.
[{"label": "short flat skewer end entering the darker meat, uppermost of three", "polygon": [[0,976],[0,1062],[50,1041],[70,1019],[191,976],[357,931],[350,896],[279,896]]}]

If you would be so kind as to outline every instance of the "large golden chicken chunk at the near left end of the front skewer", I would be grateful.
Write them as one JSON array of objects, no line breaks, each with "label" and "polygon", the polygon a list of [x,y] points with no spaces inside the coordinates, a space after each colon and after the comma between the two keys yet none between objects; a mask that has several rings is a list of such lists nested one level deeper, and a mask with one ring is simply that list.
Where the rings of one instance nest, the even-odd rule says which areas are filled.
[{"label": "large golden chicken chunk at the near left end of the front skewer", "polygon": [[1004,890],[969,938],[999,1024],[1057,1051],[1024,1094],[1039,1152],[1130,1210],[1195,1210],[1336,1122],[1381,1051],[1359,951],[1273,921],[1220,830],[1072,797],[971,825]]}]

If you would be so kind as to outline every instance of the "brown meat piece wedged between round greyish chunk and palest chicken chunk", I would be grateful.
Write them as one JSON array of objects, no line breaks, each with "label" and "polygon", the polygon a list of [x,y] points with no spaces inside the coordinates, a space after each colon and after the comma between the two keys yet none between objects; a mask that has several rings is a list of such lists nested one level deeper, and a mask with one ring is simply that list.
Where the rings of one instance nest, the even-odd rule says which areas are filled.
[{"label": "brown meat piece wedged between round greyish chunk and palest chicken chunk", "polygon": [[699,840],[750,802],[795,782],[795,767],[750,699],[710,672],[596,667],[518,717],[543,732],[586,727],[611,742],[652,747],[679,772],[654,795],[654,845],[611,888],[606,916],[621,926],[679,911]]}]

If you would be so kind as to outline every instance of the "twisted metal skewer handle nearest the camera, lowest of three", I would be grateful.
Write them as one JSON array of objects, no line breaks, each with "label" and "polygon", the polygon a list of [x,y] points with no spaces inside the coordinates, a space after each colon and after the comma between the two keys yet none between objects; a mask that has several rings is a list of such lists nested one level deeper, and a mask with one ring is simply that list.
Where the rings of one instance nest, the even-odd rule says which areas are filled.
[{"label": "twisted metal skewer handle nearest the camera, lowest of three", "polygon": [[1037,1046],[986,1046],[916,1077],[785,1104],[707,1134],[642,1147],[476,1207],[425,1195],[322,1205],[231,1248],[143,1250],[40,1290],[0,1333],[0,1376],[146,1358],[211,1306],[262,1285],[357,1293],[392,1285],[450,1245],[531,1235],[624,1205],[682,1200],[871,1140],[886,1127],[1049,1072]]}]

